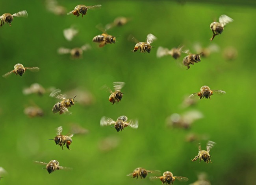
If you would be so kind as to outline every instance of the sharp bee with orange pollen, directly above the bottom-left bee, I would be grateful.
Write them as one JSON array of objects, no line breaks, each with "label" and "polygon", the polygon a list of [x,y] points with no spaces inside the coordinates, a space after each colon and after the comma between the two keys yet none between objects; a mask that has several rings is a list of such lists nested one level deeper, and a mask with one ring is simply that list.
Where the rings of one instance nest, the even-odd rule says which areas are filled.
[{"label": "sharp bee with orange pollen, directly above the bottom-left bee", "polygon": [[[62,126],[59,126],[57,128],[57,136],[54,137],[54,139],[49,139],[49,140],[54,140],[56,145],[61,146],[62,150],[63,150],[63,146],[65,147],[65,144],[67,146],[67,149],[69,149],[69,145],[71,145],[72,143],[72,139],[71,137],[73,137],[74,134],[68,134],[68,135],[62,135]],[[69,149],[70,150],[70,149]]]}]

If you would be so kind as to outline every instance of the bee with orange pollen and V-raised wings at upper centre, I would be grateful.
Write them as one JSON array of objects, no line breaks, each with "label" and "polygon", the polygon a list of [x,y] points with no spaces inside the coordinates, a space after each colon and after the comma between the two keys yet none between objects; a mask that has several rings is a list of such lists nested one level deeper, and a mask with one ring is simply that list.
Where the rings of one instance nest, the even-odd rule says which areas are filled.
[{"label": "bee with orange pollen and V-raised wings at upper centre", "polygon": [[156,39],[156,36],[152,35],[151,33],[147,35],[147,42],[138,42],[137,39],[132,38],[132,40],[134,40],[135,43],[137,43],[132,52],[136,52],[138,49],[140,49],[140,53],[150,53],[151,49],[154,48],[150,46],[150,44],[154,42],[154,40]]}]

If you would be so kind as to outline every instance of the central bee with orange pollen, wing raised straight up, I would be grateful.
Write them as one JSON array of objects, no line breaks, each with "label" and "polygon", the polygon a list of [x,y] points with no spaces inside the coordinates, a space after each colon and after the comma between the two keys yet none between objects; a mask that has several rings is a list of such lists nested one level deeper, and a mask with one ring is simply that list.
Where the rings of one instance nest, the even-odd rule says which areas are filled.
[{"label": "central bee with orange pollen, wing raised straight up", "polygon": [[125,82],[113,82],[113,85],[114,85],[114,88],[115,88],[115,92],[112,92],[112,90],[104,85],[102,88],[104,89],[107,89],[111,95],[109,96],[109,101],[112,103],[112,104],[115,104],[115,103],[118,103],[119,101],[121,101],[122,99],[122,92],[121,92],[121,89],[122,87],[124,86]]}]

